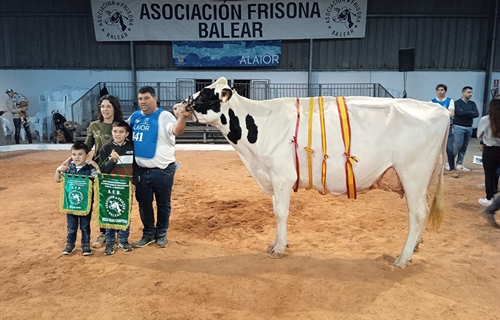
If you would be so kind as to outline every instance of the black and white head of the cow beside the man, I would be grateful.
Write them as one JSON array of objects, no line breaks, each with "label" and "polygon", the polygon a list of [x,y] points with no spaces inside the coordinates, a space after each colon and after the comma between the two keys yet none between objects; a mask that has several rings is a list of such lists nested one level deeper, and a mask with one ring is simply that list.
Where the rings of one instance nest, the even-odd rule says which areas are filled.
[{"label": "black and white head of the cow beside the man", "polygon": [[232,95],[227,79],[221,77],[182,103],[193,111],[193,120],[213,124],[220,119],[221,103],[228,102]]}]

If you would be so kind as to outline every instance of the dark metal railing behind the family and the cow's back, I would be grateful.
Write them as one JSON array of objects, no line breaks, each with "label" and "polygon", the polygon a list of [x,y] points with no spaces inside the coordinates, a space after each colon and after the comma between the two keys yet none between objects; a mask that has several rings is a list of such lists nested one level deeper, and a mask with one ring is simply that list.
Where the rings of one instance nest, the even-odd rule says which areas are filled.
[{"label": "dark metal railing behind the family and the cow's back", "polygon": [[[151,86],[156,91],[159,107],[172,112],[172,107],[177,102],[189,97],[197,90],[199,84],[194,81],[178,82],[138,82],[134,88],[131,82],[99,82],[84,96],[72,104],[73,121],[82,128],[87,128],[91,121],[96,119],[101,90],[106,88],[109,94],[120,101],[123,116],[128,118],[138,109],[137,91],[143,86]],[[253,100],[268,100],[283,97],[309,97],[309,96],[367,96],[387,97],[393,96],[379,83],[327,83],[327,84],[298,84],[298,83],[234,83],[234,88],[240,94]],[[193,124],[194,125],[194,124]],[[83,130],[85,131],[85,130]],[[191,135],[193,135],[192,130]],[[207,137],[207,130],[200,128],[200,142],[213,142]],[[194,134],[196,135],[196,134]],[[215,135],[213,135],[215,136]]]}]

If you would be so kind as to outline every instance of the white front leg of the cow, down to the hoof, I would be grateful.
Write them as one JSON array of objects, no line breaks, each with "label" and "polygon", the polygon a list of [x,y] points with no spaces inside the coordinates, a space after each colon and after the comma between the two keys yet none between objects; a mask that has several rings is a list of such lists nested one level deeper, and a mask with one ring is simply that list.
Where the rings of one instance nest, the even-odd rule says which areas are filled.
[{"label": "white front leg of the cow, down to the hoof", "polygon": [[273,243],[267,248],[269,258],[279,259],[285,255],[285,246],[287,246],[286,224],[288,220],[288,212],[290,210],[290,193],[292,186],[282,187],[279,190],[274,190],[273,208],[274,216],[276,217],[276,238]]}]

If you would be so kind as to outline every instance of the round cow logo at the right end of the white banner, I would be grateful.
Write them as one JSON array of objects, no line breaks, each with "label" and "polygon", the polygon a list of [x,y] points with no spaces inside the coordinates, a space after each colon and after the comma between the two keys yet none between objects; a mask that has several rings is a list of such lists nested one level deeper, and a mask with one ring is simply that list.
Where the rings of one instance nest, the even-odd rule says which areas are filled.
[{"label": "round cow logo at the right end of the white banner", "polygon": [[325,12],[325,23],[333,38],[347,38],[356,33],[364,21],[361,5],[355,1],[333,0]]}]

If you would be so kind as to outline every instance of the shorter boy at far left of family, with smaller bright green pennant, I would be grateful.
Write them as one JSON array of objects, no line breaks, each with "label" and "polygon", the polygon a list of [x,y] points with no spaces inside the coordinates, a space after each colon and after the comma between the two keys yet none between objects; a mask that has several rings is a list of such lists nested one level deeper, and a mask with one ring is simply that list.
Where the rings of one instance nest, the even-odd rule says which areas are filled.
[{"label": "shorter boy at far left of family, with smaller bright green pennant", "polygon": [[76,142],[71,146],[71,162],[68,166],[60,165],[56,168],[55,180],[64,181],[61,193],[61,211],[66,213],[68,221],[68,235],[66,247],[62,254],[70,255],[75,251],[75,242],[78,226],[82,232],[82,254],[92,254],[90,249],[90,220],[92,218],[93,176],[99,171],[95,161],[87,161],[89,152],[85,143]]}]

